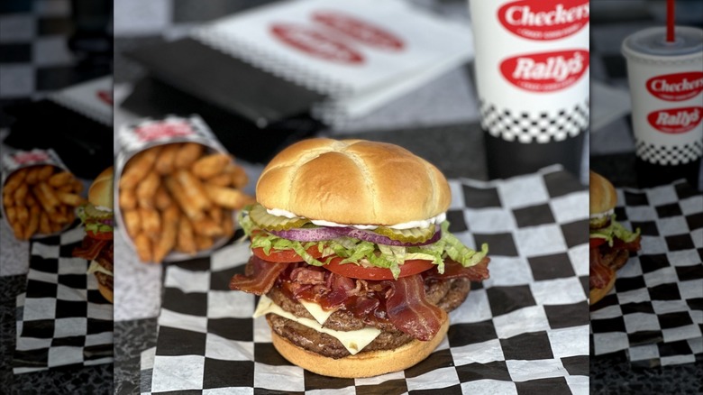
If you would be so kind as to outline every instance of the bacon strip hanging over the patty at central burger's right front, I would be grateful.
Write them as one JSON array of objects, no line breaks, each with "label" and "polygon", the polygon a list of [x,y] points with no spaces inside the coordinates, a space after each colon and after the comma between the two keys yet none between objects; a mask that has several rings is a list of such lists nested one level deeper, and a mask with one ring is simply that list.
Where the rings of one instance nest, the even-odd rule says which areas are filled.
[{"label": "bacon strip hanging over the patty at central burger's right front", "polygon": [[393,284],[386,300],[390,322],[400,331],[427,341],[437,335],[442,326],[442,310],[425,298],[425,281],[421,275],[402,277]]}]

